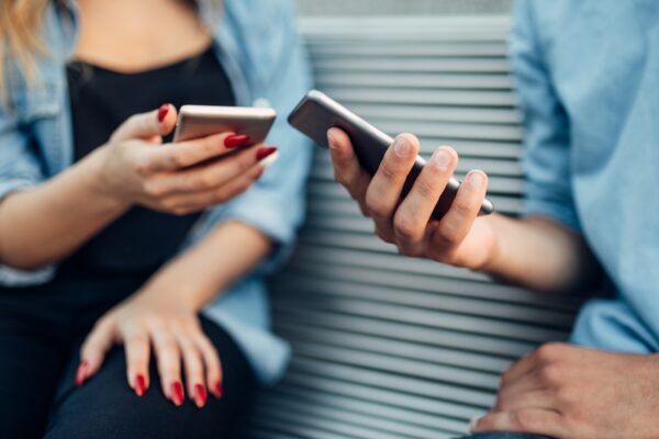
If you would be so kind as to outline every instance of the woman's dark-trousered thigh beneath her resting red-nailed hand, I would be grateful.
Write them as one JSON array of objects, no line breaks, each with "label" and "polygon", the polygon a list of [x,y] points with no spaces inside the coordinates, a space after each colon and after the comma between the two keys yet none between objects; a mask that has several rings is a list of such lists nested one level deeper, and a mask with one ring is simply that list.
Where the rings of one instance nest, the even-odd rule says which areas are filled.
[{"label": "woman's dark-trousered thigh beneath her resting red-nailed hand", "polygon": [[[231,438],[252,405],[256,381],[235,342],[214,323],[202,317],[204,333],[222,358],[223,396],[209,393],[203,408],[187,398],[176,407],[163,395],[155,362],[150,386],[137,397],[126,383],[124,352],[109,352],[99,373],[81,387],[74,385],[78,358],[67,367],[51,414],[47,439],[81,438]],[[153,360],[153,359],[152,359]]]}]

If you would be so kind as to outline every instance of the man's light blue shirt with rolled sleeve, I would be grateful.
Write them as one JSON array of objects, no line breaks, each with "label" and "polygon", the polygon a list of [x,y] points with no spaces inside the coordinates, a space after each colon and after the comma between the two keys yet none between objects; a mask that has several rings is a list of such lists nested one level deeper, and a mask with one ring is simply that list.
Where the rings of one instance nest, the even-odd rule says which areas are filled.
[{"label": "man's light blue shirt with rolled sleeve", "polygon": [[659,350],[659,2],[518,1],[526,212],[583,234],[610,278],[572,334]]}]

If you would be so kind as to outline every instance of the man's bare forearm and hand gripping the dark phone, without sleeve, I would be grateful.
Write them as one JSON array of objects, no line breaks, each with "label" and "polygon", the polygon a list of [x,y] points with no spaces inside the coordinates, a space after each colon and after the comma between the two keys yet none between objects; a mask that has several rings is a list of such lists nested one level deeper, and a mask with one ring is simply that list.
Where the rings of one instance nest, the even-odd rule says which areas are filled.
[{"label": "man's bare forearm and hand gripping the dark phone, without sleeve", "polygon": [[[480,170],[467,176],[448,213],[440,221],[431,219],[458,161],[453,148],[435,151],[399,203],[418,151],[414,136],[396,137],[373,178],[359,167],[345,133],[333,130],[330,144],[338,181],[373,218],[378,236],[403,255],[483,271],[537,291],[577,290],[590,281],[592,256],[578,233],[541,216],[477,216],[488,183]],[[396,154],[396,147],[409,150]]]}]

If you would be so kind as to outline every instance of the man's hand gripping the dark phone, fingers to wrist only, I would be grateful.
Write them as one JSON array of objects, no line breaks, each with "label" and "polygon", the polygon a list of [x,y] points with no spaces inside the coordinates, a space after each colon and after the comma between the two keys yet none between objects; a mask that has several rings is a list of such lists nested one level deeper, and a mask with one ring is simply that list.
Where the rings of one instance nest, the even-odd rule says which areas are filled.
[{"label": "man's hand gripping the dark phone, fingers to wrist only", "polygon": [[332,128],[327,136],[336,179],[373,219],[381,239],[394,244],[403,255],[473,270],[484,269],[495,258],[498,243],[489,218],[478,217],[488,188],[484,172],[469,172],[446,215],[440,221],[431,217],[458,162],[453,148],[436,149],[401,200],[403,183],[418,154],[416,137],[398,136],[371,178],[359,166],[343,131]]}]

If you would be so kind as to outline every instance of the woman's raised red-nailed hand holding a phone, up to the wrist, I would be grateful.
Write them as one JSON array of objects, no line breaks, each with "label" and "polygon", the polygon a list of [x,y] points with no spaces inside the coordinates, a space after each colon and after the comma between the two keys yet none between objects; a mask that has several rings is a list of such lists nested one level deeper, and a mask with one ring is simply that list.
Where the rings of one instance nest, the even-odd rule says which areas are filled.
[{"label": "woman's raised red-nailed hand holding a phone, up to the wrist", "polygon": [[176,109],[163,105],[124,122],[97,151],[98,193],[182,215],[243,193],[276,159],[277,149],[261,144],[236,149],[249,138],[233,133],[161,145],[176,119]]}]

